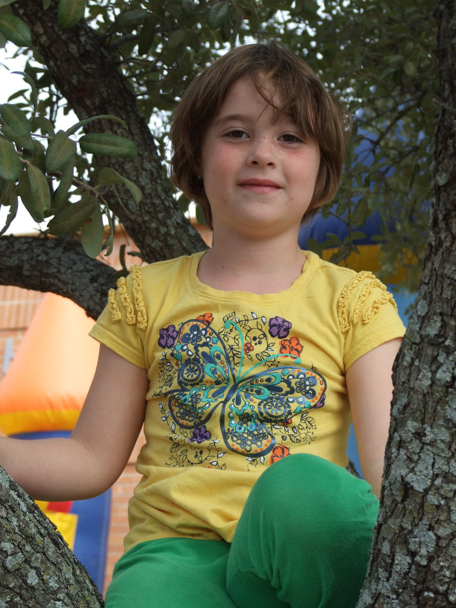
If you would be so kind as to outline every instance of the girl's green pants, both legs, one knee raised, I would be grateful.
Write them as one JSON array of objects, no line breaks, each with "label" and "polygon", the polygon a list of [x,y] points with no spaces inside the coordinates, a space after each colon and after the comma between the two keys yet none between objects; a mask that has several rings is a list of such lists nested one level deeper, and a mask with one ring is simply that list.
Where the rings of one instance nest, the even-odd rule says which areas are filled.
[{"label": "girl's green pants, both legs, one knee raised", "polygon": [[283,458],[250,492],[232,544],[136,545],[105,608],[354,608],[377,514],[364,480],[316,456]]}]

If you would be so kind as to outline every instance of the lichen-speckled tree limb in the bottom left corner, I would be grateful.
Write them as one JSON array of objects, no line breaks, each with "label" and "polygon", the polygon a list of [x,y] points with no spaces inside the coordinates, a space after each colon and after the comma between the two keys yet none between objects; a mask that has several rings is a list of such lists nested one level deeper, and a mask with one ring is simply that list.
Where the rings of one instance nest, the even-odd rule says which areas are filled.
[{"label": "lichen-speckled tree limb in the bottom left corner", "polygon": [[0,608],[102,608],[53,523],[0,468]]}]

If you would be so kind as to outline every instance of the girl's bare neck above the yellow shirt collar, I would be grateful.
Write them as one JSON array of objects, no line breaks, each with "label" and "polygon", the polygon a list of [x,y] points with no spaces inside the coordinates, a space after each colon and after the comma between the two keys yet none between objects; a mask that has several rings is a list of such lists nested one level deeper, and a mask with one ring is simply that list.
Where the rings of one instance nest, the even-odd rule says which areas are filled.
[{"label": "girl's bare neck above the yellow shirt collar", "polygon": [[215,234],[212,249],[199,263],[198,278],[223,291],[278,293],[299,277],[305,261],[297,235],[246,241]]}]

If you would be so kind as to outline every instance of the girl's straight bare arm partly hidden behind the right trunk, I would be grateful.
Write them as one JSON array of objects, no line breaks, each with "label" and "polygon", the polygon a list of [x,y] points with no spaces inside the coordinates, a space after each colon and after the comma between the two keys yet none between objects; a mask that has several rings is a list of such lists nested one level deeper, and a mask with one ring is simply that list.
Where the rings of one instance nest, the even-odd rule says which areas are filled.
[{"label": "girl's straight bare arm partly hidden behind the right trunk", "polygon": [[393,396],[392,367],[401,338],[364,354],[346,373],[353,428],[365,480],[379,498]]}]

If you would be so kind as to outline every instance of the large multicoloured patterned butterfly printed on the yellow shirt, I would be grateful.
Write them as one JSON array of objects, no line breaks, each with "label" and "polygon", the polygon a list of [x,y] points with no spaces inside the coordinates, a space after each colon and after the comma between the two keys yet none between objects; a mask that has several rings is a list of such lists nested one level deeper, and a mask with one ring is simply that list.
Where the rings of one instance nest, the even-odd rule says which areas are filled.
[{"label": "large multicoloured patterned butterfly printed on the yellow shirt", "polygon": [[[225,328],[229,325],[237,331],[240,344],[237,371],[223,336],[201,320],[188,320],[170,352],[179,388],[165,391],[165,396],[171,417],[182,429],[201,427],[218,412],[226,447],[259,457],[275,445],[272,425],[289,424],[294,416],[323,407],[326,381],[316,371],[297,365],[300,359],[289,354],[267,358],[286,359],[284,365],[265,370],[263,361],[243,374],[243,334],[235,320],[226,320]],[[290,359],[294,359],[291,364]]]}]

